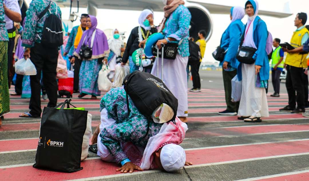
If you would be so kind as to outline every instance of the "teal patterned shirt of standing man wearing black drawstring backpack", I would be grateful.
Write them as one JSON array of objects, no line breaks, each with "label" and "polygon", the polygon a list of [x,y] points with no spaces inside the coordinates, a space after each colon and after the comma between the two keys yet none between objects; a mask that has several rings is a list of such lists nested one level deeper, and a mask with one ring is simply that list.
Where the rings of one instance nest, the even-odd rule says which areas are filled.
[{"label": "teal patterned shirt of standing man wearing black drawstring backpack", "polygon": [[[44,22],[50,15],[49,11],[38,20],[38,16],[49,5],[50,0],[32,0],[27,10],[26,22],[23,30],[23,47],[33,47],[34,43],[41,43],[40,37],[42,36]],[[57,9],[56,9],[57,8]],[[61,10],[56,3],[50,4],[49,10],[51,13],[56,14],[61,19]]]}]

